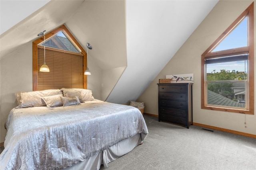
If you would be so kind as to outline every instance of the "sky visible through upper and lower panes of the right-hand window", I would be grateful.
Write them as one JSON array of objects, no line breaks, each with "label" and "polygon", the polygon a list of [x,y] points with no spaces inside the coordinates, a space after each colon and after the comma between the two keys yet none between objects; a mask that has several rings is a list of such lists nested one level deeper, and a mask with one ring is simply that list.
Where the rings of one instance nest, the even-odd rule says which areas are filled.
[{"label": "sky visible through upper and lower panes of the right-hand window", "polygon": [[[244,20],[226,38],[224,38],[223,41],[212,52],[248,46],[247,20],[247,17],[244,18]],[[230,72],[232,70],[246,71],[247,68],[247,63],[245,64],[244,61],[236,61],[228,63],[208,64],[206,69],[207,73],[210,73],[213,70],[220,72],[221,69],[230,70]]]}]

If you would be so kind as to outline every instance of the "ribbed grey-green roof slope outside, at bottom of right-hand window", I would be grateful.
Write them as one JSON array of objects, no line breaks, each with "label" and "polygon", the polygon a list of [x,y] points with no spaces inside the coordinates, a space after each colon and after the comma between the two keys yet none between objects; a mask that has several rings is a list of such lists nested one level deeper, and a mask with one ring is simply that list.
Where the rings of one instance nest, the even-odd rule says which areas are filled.
[{"label": "ribbed grey-green roof slope outside, at bottom of right-hand window", "polygon": [[221,96],[220,94],[214,93],[210,90],[208,90],[207,95],[208,95],[208,104],[232,106],[232,107],[244,107],[244,105],[239,104],[238,102],[235,102],[228,98],[225,98],[224,96]]}]

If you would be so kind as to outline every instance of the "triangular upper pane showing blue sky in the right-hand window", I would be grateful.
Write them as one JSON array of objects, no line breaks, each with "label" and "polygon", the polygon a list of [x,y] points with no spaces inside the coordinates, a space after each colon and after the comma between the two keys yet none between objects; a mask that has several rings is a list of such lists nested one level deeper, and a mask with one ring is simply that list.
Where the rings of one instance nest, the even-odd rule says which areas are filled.
[{"label": "triangular upper pane showing blue sky in the right-hand window", "polygon": [[211,52],[248,46],[248,17],[245,17]]}]

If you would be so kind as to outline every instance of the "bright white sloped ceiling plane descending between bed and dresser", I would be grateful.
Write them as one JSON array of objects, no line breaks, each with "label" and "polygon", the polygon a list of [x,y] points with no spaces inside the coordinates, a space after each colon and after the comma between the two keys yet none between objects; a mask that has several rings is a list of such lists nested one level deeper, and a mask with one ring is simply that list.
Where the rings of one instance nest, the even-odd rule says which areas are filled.
[{"label": "bright white sloped ceiling plane descending between bed and dresser", "polygon": [[[128,100],[136,100],[217,2],[128,0],[126,2],[128,66],[107,101],[123,104],[128,103]],[[176,64],[182,67],[182,63]]]}]

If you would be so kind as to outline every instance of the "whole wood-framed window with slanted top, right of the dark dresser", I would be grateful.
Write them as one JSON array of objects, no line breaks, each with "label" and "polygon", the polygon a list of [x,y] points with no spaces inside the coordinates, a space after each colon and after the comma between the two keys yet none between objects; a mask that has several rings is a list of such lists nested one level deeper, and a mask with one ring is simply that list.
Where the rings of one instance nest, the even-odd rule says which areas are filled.
[{"label": "whole wood-framed window with slanted top, right of the dark dresser", "polygon": [[202,109],[254,114],[253,3],[202,54]]}]

